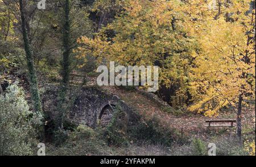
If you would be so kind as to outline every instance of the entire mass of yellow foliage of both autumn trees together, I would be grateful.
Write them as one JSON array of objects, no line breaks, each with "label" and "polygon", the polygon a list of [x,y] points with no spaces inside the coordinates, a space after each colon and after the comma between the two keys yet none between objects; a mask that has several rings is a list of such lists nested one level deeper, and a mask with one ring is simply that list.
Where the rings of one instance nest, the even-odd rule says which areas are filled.
[{"label": "entire mass of yellow foliage of both autumn trees together", "polygon": [[255,98],[255,9],[249,0],[218,2],[209,8],[205,0],[106,1],[123,11],[93,39],[77,40],[77,58],[157,64],[160,85],[179,85],[177,96],[192,95],[189,110],[216,116],[240,95]]}]

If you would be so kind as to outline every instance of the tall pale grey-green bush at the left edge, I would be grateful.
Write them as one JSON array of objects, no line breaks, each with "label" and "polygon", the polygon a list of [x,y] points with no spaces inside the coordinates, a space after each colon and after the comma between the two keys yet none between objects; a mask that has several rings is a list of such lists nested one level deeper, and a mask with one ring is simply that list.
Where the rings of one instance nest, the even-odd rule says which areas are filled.
[{"label": "tall pale grey-green bush at the left edge", "polygon": [[0,155],[32,155],[42,115],[29,109],[16,83],[0,95]]}]

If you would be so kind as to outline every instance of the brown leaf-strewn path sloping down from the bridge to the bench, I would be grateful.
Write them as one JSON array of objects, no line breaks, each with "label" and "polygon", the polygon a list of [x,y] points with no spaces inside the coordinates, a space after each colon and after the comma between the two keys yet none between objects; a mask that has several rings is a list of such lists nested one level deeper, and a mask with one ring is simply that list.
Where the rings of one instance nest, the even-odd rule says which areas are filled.
[{"label": "brown leaf-strewn path sloping down from the bridge to the bench", "polygon": [[[96,85],[96,78],[90,78],[88,85]],[[205,120],[207,119],[236,119],[236,113],[230,110],[220,113],[216,118],[209,118],[202,114],[184,112],[172,108],[166,109],[165,106],[160,105],[159,102],[142,93],[143,91],[128,90],[117,86],[104,86],[100,88],[112,95],[118,96],[126,104],[137,110],[139,114],[143,115],[144,119],[158,117],[163,127],[175,128],[187,135],[196,135],[207,130],[204,127]],[[244,119],[242,120],[243,127],[255,129],[254,110],[254,104],[245,108]]]}]

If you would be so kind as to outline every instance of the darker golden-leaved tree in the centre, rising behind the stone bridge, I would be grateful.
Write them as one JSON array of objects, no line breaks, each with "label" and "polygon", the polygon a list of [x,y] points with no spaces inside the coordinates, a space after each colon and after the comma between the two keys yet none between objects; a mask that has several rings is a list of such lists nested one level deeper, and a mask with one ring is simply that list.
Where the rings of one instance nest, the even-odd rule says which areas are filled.
[{"label": "darker golden-leaved tree in the centre, rising behind the stone bridge", "polygon": [[[196,48],[184,31],[180,1],[117,1],[123,10],[91,39],[81,37],[77,58],[92,54],[119,65],[158,65],[160,85],[186,89],[191,53]],[[185,91],[183,91],[185,92]]]}]

